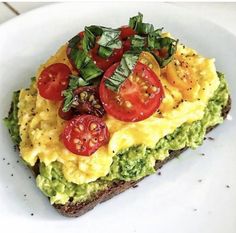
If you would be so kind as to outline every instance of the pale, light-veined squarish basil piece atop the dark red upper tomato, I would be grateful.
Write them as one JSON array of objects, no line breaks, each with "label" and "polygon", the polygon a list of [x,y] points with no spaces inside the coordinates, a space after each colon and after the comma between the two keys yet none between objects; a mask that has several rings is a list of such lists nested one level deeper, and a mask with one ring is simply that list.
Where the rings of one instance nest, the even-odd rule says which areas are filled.
[{"label": "pale, light-veined squarish basil piece atop the dark red upper tomato", "polygon": [[120,49],[122,47],[122,42],[119,38],[120,30],[105,27],[103,27],[102,29],[102,35],[97,43],[100,46],[104,46],[110,49]]}]

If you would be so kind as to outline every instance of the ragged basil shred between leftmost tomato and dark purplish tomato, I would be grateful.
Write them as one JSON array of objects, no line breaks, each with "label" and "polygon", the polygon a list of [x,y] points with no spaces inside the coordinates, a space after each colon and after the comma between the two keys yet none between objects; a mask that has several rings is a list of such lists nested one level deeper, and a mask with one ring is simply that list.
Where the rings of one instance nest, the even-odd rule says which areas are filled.
[{"label": "ragged basil shred between leftmost tomato and dark purplish tomato", "polygon": [[63,96],[64,96],[64,105],[62,108],[63,112],[68,112],[70,110],[74,98],[73,94],[74,90],[77,89],[78,87],[89,85],[89,83],[86,82],[81,77],[70,75],[69,78],[70,78],[69,87],[65,91],[63,91]]}]

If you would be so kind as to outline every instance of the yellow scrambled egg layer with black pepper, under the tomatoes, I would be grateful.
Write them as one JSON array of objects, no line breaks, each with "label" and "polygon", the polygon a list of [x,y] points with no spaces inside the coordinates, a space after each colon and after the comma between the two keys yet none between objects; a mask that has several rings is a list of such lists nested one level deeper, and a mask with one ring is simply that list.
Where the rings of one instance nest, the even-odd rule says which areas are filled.
[{"label": "yellow scrambled egg layer with black pepper, under the tomatoes", "polygon": [[[154,147],[160,138],[172,133],[183,123],[201,119],[209,98],[219,85],[214,60],[204,58],[182,45],[178,45],[176,55],[191,66],[195,77],[196,84],[188,90],[187,98],[186,90],[169,81],[166,78],[167,70],[162,69],[160,80],[165,98],[159,111],[136,123],[121,122],[107,115],[105,122],[110,131],[110,141],[89,157],[71,153],[60,141],[65,122],[57,114],[58,103],[42,98],[35,85],[21,90],[18,116],[23,159],[32,166],[38,158],[46,165],[59,161],[63,164],[63,173],[68,181],[88,183],[108,174],[112,157],[119,150],[137,144]],[[66,56],[66,45],[39,68],[36,78],[45,67],[56,62],[65,63],[72,69]]]}]

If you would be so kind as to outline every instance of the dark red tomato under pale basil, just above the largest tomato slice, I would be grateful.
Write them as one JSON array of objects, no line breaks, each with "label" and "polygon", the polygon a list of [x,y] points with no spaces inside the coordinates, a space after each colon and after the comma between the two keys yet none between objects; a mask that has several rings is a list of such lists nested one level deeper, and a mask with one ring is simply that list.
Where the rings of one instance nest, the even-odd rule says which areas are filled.
[{"label": "dark red tomato under pale basil, just above the largest tomato slice", "polygon": [[90,54],[92,59],[95,61],[95,64],[98,68],[103,71],[106,71],[111,65],[121,60],[123,55],[123,48],[114,49],[112,55],[108,58],[102,58],[98,55],[99,45],[96,44],[93,49],[91,49]]}]

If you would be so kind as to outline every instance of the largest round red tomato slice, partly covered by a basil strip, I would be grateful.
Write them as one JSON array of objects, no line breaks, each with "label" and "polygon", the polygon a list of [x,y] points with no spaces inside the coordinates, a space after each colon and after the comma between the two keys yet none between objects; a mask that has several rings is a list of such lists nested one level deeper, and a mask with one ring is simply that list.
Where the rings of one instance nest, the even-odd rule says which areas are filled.
[{"label": "largest round red tomato slice, partly covered by a basil strip", "polygon": [[138,62],[116,93],[105,86],[105,80],[118,65],[111,66],[100,83],[100,98],[106,112],[121,121],[135,122],[148,118],[159,108],[164,97],[161,82],[148,66]]}]

